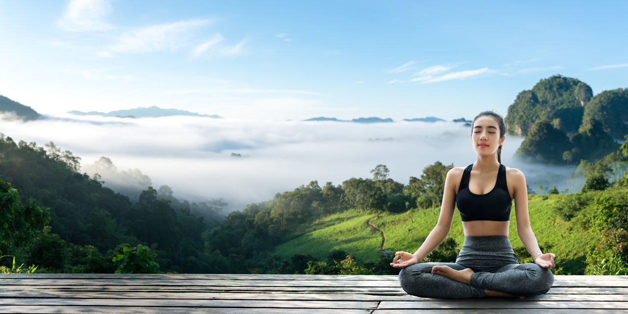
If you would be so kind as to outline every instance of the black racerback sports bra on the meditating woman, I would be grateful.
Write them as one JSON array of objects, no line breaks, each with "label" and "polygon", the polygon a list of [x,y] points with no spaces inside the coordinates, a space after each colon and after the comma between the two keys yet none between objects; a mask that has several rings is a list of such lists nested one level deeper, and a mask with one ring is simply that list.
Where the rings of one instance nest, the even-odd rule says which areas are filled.
[{"label": "black racerback sports bra on the meditating woman", "polygon": [[473,220],[510,220],[512,198],[506,185],[506,166],[499,164],[495,187],[486,194],[474,194],[469,191],[469,176],[473,164],[468,165],[460,180],[456,195],[456,206],[462,221]]}]

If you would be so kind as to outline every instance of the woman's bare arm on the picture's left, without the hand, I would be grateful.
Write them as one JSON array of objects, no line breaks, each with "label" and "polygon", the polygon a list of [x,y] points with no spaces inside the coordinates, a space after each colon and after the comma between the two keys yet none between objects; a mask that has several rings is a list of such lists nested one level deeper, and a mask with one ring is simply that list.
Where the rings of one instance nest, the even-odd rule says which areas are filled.
[{"label": "woman's bare arm on the picture's left, without the hand", "polygon": [[452,228],[453,210],[456,204],[456,180],[453,179],[456,176],[453,175],[453,171],[457,170],[454,169],[455,168],[450,169],[445,178],[445,191],[443,191],[443,203],[440,207],[438,223],[436,223],[430,235],[425,238],[421,247],[413,254],[419,261],[423,260],[425,256],[440,245]]}]

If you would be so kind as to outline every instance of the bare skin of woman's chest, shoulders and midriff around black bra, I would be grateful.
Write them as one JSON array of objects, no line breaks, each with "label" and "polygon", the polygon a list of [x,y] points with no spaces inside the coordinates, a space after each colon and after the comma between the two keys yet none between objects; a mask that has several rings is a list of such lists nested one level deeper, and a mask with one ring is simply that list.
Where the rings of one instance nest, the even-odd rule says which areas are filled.
[{"label": "bare skin of woman's chest, shoulders and midriff around black bra", "polygon": [[[510,196],[510,199],[513,199],[514,196],[514,184],[509,183],[509,171],[505,174],[506,186],[507,186],[507,194]],[[460,191],[460,181],[462,180],[463,173],[465,171],[464,167],[457,167],[457,171],[453,173],[452,179],[456,180],[456,195]],[[487,195],[495,188],[497,188],[498,182],[498,174],[499,170],[495,169],[494,171],[484,171],[480,173],[479,170],[471,169],[470,176],[468,177],[468,191],[471,192],[472,195],[475,195],[477,198],[481,198],[482,196]],[[458,209],[460,210],[460,209]],[[472,221],[462,221],[462,226],[465,231],[465,236],[489,236],[489,235],[508,235],[508,226],[510,225],[510,221],[492,221],[492,220],[472,220]]]}]

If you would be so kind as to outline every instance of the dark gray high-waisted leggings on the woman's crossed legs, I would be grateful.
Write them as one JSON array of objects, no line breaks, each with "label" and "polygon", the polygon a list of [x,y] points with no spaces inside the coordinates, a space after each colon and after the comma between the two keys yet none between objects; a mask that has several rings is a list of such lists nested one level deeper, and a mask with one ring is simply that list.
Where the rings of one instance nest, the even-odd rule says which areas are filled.
[{"label": "dark gray high-waisted leggings on the woman's crossed legs", "polygon": [[[435,265],[454,270],[471,268],[471,284],[431,273]],[[455,263],[416,263],[399,271],[401,288],[424,298],[481,298],[484,289],[513,295],[546,293],[554,283],[548,268],[533,263],[519,264],[508,236],[465,236]]]}]

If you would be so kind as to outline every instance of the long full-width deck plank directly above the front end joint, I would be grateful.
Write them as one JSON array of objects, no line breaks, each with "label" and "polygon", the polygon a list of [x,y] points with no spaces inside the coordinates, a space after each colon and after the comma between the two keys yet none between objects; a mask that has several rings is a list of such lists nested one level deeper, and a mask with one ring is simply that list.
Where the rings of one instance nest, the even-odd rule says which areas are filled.
[{"label": "long full-width deck plank directly above the front end joint", "polygon": [[[367,295],[338,293],[163,293],[163,292],[82,292],[82,291],[12,291],[0,292],[1,298],[100,298],[100,299],[175,299],[175,300],[301,300],[301,301],[455,301],[450,298],[420,298],[413,295]],[[459,300],[459,299],[458,299]],[[486,301],[508,300],[486,298]],[[628,301],[627,295],[539,295],[526,301]]]}]

